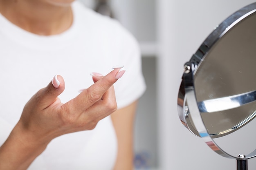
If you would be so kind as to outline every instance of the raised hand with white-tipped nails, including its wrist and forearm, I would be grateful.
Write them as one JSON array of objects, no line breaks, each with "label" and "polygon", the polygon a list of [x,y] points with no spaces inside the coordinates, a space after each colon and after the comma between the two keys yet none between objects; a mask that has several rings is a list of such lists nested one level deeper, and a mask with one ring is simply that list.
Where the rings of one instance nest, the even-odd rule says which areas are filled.
[{"label": "raised hand with white-tipped nails, including its wrist and forearm", "polygon": [[54,77],[27,102],[20,120],[0,147],[0,169],[25,170],[55,137],[93,129],[117,109],[112,85],[123,74],[117,68],[104,77],[96,76],[97,82],[65,104],[58,99],[65,88],[64,80],[60,75]]}]

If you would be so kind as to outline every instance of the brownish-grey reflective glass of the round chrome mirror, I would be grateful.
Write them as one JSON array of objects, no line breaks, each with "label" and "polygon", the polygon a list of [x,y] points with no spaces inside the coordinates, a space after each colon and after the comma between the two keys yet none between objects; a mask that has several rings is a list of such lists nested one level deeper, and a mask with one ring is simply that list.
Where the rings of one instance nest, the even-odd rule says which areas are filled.
[{"label": "brownish-grey reflective glass of the round chrome mirror", "polygon": [[[216,102],[209,102],[207,105],[210,113],[202,112],[202,119],[210,134],[236,130],[254,118],[256,102],[252,101],[243,106],[234,104],[230,106],[234,108],[225,109],[229,106],[217,99],[255,91],[255,65],[256,13],[249,15],[225,33],[211,47],[195,72],[197,101],[216,99]],[[220,110],[222,108],[225,110]],[[251,119],[243,122],[250,115],[253,115]]]}]

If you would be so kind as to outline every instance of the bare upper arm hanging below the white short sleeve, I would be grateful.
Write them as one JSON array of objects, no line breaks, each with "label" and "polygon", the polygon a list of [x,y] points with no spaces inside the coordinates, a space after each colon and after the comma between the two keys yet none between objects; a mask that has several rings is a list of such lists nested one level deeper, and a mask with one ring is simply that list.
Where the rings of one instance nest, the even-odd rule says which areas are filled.
[{"label": "bare upper arm hanging below the white short sleeve", "polygon": [[133,127],[137,101],[112,113],[118,152],[114,170],[133,170]]}]

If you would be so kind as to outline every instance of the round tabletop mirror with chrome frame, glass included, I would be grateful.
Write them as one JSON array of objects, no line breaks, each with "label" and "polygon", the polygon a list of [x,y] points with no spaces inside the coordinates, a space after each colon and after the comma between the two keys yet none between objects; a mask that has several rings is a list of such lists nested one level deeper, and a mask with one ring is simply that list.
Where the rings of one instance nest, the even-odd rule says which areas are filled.
[{"label": "round tabletop mirror with chrome frame, glass included", "polygon": [[182,124],[225,157],[256,156],[256,3],[216,26],[184,65]]}]

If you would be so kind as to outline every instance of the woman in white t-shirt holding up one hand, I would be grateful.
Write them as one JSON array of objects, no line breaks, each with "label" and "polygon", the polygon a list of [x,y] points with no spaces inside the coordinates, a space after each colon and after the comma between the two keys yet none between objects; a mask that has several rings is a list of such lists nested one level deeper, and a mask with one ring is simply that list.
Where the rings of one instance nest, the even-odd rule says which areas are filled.
[{"label": "woman in white t-shirt holding up one hand", "polygon": [[73,1],[0,0],[1,170],[132,169],[137,42]]}]

